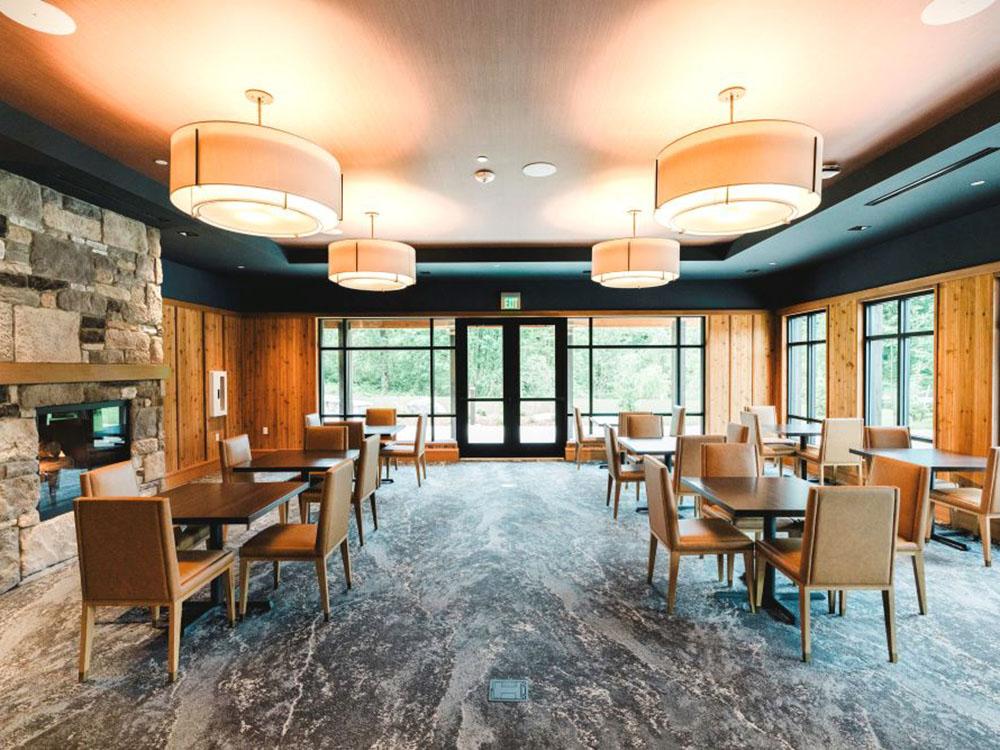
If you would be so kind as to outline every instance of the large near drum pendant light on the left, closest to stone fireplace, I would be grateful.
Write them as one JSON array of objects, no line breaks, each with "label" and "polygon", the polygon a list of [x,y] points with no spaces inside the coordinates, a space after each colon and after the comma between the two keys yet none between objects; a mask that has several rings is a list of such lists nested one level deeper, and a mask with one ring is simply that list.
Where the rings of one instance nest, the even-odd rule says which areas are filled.
[{"label": "large near drum pendant light on the left, closest to stone fireplace", "polygon": [[340,223],[340,164],[311,141],[261,124],[274,98],[250,89],[257,124],[208,121],[170,136],[170,202],[206,224],[261,237],[308,237]]}]

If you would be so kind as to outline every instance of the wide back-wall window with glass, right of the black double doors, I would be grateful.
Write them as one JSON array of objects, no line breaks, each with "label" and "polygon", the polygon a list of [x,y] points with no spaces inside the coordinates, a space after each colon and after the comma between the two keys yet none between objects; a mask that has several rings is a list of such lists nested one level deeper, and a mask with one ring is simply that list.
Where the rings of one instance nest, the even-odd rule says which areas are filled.
[{"label": "wide back-wall window with glass, right of the black double doors", "polygon": [[[687,432],[705,416],[705,319],[570,318],[569,407],[585,417],[686,409]],[[572,432],[572,430],[571,430]]]}]

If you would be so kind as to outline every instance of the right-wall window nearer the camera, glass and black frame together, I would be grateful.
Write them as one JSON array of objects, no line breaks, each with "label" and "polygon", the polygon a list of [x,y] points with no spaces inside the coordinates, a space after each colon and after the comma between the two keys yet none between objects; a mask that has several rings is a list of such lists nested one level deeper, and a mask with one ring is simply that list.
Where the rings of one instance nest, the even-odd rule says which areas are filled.
[{"label": "right-wall window nearer the camera, glass and black frame together", "polygon": [[934,293],[865,305],[865,421],[934,439]]}]

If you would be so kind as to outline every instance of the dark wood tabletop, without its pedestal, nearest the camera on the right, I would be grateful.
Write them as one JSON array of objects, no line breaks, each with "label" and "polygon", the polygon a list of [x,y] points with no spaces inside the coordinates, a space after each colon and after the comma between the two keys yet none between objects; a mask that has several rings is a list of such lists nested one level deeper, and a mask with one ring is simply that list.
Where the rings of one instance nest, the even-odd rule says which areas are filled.
[{"label": "dark wood tabletop, without its pedestal, nearest the camera on the right", "polygon": [[805,516],[809,489],[798,477],[685,477],[684,485],[737,518]]}]

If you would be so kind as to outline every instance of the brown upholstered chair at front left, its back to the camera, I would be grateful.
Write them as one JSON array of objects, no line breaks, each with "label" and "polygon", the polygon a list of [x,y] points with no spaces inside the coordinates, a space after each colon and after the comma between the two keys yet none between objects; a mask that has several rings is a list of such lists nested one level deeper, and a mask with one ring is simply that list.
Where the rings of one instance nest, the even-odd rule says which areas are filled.
[{"label": "brown upholstered chair at front left, its back to the camera", "polygon": [[87,679],[98,607],[169,607],[167,674],[177,679],[184,600],[224,577],[229,624],[236,622],[232,552],[174,545],[165,497],[78,497],[73,501],[83,612],[80,681]]}]

